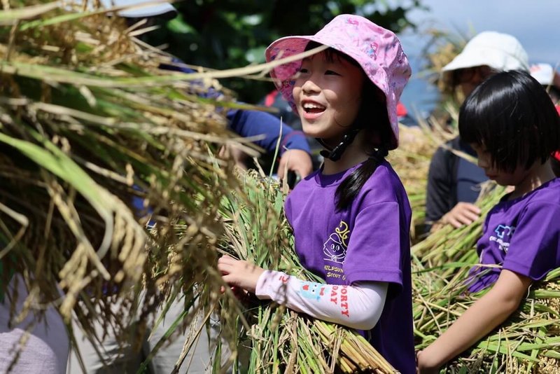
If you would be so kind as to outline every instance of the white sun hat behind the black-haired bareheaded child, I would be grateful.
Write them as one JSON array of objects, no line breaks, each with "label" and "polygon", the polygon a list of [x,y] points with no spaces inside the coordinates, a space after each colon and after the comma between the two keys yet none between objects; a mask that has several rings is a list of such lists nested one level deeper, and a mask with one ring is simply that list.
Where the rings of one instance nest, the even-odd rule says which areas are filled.
[{"label": "white sun hat behind the black-haired bareheaded child", "polygon": [[442,73],[445,75],[457,69],[483,65],[496,71],[529,69],[527,53],[514,36],[500,32],[481,32],[470,39],[463,51],[443,67]]}]

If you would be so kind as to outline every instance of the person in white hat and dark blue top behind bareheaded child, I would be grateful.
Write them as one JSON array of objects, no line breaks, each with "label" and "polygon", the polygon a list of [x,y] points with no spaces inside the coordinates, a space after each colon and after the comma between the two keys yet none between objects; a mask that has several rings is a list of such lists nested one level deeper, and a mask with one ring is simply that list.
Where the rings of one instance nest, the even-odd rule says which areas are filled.
[{"label": "person in white hat and dark blue top behind bareheaded child", "polygon": [[[444,85],[452,93],[460,90],[468,97],[486,78],[500,71],[528,71],[528,57],[521,43],[509,34],[481,32],[474,36],[454,60],[442,69]],[[478,219],[474,202],[480,183],[488,180],[484,170],[454,151],[476,157],[460,136],[435,151],[428,170],[426,188],[426,231],[435,223],[455,228]]]}]

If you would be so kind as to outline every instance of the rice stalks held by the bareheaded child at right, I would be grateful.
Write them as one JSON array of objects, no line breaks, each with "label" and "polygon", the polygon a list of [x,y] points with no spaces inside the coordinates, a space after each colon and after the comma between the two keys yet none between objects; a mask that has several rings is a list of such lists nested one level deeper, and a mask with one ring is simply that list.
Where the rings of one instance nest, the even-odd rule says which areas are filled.
[{"label": "rice stalks held by the bareheaded child at right", "polygon": [[[478,263],[475,244],[484,216],[504,188],[487,182],[477,205],[482,214],[463,228],[444,226],[412,247],[416,349],[433,342],[485,291],[467,294],[468,270]],[[499,328],[448,364],[452,373],[558,373],[560,269],[550,272]]]}]

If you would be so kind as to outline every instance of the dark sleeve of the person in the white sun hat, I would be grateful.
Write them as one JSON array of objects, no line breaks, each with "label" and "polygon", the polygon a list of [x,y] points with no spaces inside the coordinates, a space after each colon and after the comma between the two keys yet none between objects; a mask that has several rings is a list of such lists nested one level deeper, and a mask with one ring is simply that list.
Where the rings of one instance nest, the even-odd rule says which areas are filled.
[{"label": "dark sleeve of the person in the white sun hat", "polygon": [[435,151],[428,169],[428,186],[426,187],[426,222],[433,223],[449,210],[451,193],[451,170],[447,158],[449,151],[440,147]]}]

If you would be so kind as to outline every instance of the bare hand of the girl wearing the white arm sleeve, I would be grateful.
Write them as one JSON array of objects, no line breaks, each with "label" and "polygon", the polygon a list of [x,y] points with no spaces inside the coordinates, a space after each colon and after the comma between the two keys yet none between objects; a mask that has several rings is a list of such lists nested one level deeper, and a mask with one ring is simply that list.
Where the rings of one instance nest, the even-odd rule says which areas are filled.
[{"label": "bare hand of the girl wearing the white arm sleeve", "polygon": [[255,293],[258,278],[265,272],[254,263],[236,260],[227,255],[218,259],[218,270],[222,272],[225,283],[246,289],[251,293]]}]

